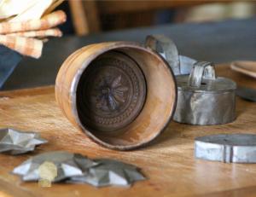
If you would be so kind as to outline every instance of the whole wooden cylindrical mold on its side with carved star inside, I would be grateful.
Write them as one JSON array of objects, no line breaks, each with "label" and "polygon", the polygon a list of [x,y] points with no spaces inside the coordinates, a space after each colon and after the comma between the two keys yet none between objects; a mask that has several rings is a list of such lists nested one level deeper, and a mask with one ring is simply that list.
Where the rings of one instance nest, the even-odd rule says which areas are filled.
[{"label": "whole wooden cylindrical mold on its side with carved star inside", "polygon": [[136,43],[96,43],[63,63],[55,97],[73,125],[95,142],[128,150],[166,127],[177,101],[170,67]]}]

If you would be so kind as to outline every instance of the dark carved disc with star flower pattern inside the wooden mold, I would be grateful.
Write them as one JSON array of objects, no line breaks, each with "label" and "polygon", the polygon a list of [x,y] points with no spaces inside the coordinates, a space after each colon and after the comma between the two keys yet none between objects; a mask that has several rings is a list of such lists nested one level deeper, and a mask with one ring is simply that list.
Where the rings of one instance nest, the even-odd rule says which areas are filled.
[{"label": "dark carved disc with star flower pattern inside the wooden mold", "polygon": [[143,72],[128,55],[108,52],[92,61],[79,82],[80,116],[95,130],[119,130],[141,112]]}]

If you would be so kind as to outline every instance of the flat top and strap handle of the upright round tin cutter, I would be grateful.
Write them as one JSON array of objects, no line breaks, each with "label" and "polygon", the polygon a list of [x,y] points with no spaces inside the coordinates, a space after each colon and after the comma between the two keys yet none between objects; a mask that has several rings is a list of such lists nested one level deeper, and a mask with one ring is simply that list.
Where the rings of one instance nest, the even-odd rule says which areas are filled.
[{"label": "flat top and strap handle of the upright round tin cutter", "polygon": [[177,90],[219,93],[236,90],[236,83],[229,78],[217,77],[214,65],[207,61],[197,61],[190,75],[179,75]]}]

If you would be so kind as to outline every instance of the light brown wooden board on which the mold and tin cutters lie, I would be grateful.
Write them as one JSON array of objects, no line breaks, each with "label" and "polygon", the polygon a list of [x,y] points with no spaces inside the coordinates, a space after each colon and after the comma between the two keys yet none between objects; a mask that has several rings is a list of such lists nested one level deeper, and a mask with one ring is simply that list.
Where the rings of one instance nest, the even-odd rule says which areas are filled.
[{"label": "light brown wooden board on which the mold and tin cutters lie", "polygon": [[[256,87],[252,78],[218,67],[218,74],[238,84]],[[253,84],[254,83],[254,84]],[[147,148],[119,152],[99,147],[71,125],[55,102],[54,87],[0,93],[0,128],[36,130],[49,140],[33,154],[0,154],[0,196],[255,196],[256,165],[224,164],[194,158],[195,136],[218,133],[256,133],[256,103],[237,98],[237,119],[227,125],[195,126],[172,122]],[[120,159],[137,165],[148,177],[131,188],[94,188],[56,183],[40,188],[23,183],[9,172],[32,155],[67,150],[91,158]]]}]

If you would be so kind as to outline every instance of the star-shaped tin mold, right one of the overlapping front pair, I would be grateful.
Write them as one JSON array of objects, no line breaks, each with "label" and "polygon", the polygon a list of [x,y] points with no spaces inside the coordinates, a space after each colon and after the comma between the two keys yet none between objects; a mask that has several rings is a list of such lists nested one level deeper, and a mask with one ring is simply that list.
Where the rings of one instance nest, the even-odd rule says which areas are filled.
[{"label": "star-shaped tin mold, right one of the overlapping front pair", "polygon": [[146,179],[134,165],[113,159],[95,159],[95,161],[99,165],[91,167],[83,176],[71,177],[68,183],[89,183],[96,187],[110,185],[129,187],[136,181]]}]

